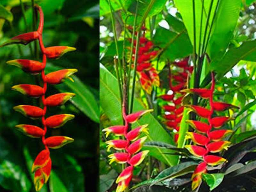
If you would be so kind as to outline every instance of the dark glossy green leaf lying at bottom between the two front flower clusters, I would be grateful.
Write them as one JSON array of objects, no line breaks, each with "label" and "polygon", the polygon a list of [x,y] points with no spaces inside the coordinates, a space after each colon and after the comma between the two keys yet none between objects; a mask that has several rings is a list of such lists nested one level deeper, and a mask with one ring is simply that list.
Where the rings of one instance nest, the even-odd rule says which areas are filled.
[{"label": "dark glossy green leaf lying at bottom between the two front flower clusters", "polygon": [[175,178],[190,172],[194,172],[197,165],[198,164],[196,162],[189,161],[167,168],[156,176],[151,186],[166,179]]}]

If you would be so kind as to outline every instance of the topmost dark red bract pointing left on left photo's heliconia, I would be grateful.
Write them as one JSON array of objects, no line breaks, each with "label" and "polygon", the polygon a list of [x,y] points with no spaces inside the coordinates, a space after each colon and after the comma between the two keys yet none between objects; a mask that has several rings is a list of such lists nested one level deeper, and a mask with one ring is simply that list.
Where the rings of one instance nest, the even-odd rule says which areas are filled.
[{"label": "topmost dark red bract pointing left on left photo's heliconia", "polygon": [[1,46],[10,45],[10,44],[28,44],[31,41],[38,39],[39,34],[37,31],[24,33],[15,37],[12,37],[6,43],[2,44]]}]

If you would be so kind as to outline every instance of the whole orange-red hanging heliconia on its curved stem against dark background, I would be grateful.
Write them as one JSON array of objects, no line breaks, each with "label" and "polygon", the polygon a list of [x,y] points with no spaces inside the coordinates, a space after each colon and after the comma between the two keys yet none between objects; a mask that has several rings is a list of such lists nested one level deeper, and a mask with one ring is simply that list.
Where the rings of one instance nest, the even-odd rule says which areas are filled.
[{"label": "whole orange-red hanging heliconia on its curved stem against dark background", "polygon": [[19,91],[25,95],[35,98],[41,98],[43,103],[43,108],[39,108],[32,105],[19,105],[15,106],[14,110],[22,113],[24,116],[27,116],[32,119],[42,119],[43,129],[34,125],[29,124],[19,124],[16,127],[24,132],[29,137],[33,138],[42,138],[42,142],[44,144],[44,150],[42,150],[37,156],[32,166],[32,172],[35,172],[35,188],[36,191],[39,191],[44,183],[50,177],[51,168],[52,168],[52,160],[50,158],[49,148],[60,148],[67,143],[73,141],[72,138],[64,137],[64,136],[52,136],[45,138],[45,134],[48,128],[58,128],[65,124],[68,120],[74,118],[73,115],[70,114],[60,114],[53,115],[49,117],[45,117],[47,107],[55,107],[64,104],[67,100],[73,97],[74,93],[59,93],[55,95],[51,95],[45,98],[45,93],[47,90],[47,84],[60,84],[63,82],[65,78],[70,78],[69,76],[75,73],[76,69],[63,69],[59,71],[54,71],[52,73],[48,73],[45,75],[44,68],[46,65],[46,59],[58,59],[64,53],[69,51],[74,51],[75,48],[68,46],[53,46],[53,47],[44,47],[42,33],[44,26],[44,14],[42,12],[41,7],[35,6],[36,10],[40,14],[39,27],[37,31],[28,32],[19,36],[13,37],[7,44],[13,43],[21,43],[28,44],[29,42],[39,40],[40,49],[43,54],[43,61],[35,61],[35,60],[27,60],[27,59],[17,59],[8,61],[8,64],[15,65],[21,68],[24,72],[29,74],[39,74],[41,73],[41,77],[43,80],[43,87],[32,84],[19,84],[12,87],[12,89]]}]

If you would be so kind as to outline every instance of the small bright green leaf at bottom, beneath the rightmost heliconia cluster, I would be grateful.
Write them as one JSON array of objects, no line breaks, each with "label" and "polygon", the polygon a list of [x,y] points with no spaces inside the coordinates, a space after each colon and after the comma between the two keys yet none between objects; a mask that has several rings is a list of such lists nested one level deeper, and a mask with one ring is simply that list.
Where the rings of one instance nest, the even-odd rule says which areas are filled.
[{"label": "small bright green leaf at bottom, beneath the rightmost heliconia cluster", "polygon": [[223,173],[203,173],[202,175],[203,180],[206,181],[207,185],[210,187],[210,191],[218,187],[224,178]]}]

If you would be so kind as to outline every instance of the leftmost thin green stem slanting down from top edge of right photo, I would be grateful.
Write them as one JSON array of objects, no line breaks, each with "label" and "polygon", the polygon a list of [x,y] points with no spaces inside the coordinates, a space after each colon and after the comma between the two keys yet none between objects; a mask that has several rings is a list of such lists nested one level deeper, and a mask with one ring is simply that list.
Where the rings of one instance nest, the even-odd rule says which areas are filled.
[{"label": "leftmost thin green stem slanting down from top edge of right photo", "polygon": [[[108,0],[108,4],[109,4],[109,9],[110,9],[110,17],[111,17],[111,23],[112,23],[112,29],[113,29],[113,32],[114,32],[114,40],[115,40],[115,45],[116,45],[116,55],[117,55],[117,61],[118,61],[118,65],[119,65],[119,78],[121,77],[121,82],[123,82],[123,76],[122,76],[122,65],[121,65],[121,61],[120,61],[120,58],[119,58],[119,52],[118,52],[118,45],[117,45],[117,36],[116,36],[116,28],[115,28],[115,20],[114,20],[114,17],[113,17],[113,9],[112,9],[112,6],[111,6],[111,3],[110,3],[110,0]],[[121,85],[121,82],[120,82],[120,79],[119,79],[119,87],[121,88],[121,95],[122,95],[122,85]],[[122,100],[122,97],[121,97],[121,105],[123,104],[123,100]]]}]

